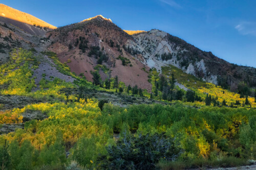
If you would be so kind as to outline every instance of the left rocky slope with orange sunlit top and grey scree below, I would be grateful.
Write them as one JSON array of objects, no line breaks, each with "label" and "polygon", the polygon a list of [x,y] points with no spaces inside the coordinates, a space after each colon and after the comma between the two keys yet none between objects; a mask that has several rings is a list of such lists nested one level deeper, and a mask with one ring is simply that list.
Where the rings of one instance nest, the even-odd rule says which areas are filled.
[{"label": "left rocky slope with orange sunlit top and grey scree below", "polygon": [[[37,85],[42,78],[42,74],[46,75],[48,80],[52,76],[73,82],[72,77],[60,73],[54,62],[48,56],[41,54],[51,45],[46,33],[56,27],[3,4],[0,4],[0,15],[2,15],[0,17],[0,64],[9,60],[9,52],[13,48],[22,47],[33,52],[40,62],[33,75],[36,78]],[[11,18],[15,18],[15,20]],[[34,26],[33,23],[35,23]]]}]

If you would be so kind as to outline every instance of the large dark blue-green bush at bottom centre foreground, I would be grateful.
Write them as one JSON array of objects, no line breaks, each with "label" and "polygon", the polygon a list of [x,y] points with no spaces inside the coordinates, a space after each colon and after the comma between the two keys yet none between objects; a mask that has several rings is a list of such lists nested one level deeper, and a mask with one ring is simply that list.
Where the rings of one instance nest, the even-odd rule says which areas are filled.
[{"label": "large dark blue-green bush at bottom centre foreground", "polygon": [[134,137],[127,126],[121,132],[116,145],[107,148],[109,159],[100,164],[102,169],[154,169],[161,159],[174,160],[182,150],[174,144],[172,138],[164,134],[146,134]]}]

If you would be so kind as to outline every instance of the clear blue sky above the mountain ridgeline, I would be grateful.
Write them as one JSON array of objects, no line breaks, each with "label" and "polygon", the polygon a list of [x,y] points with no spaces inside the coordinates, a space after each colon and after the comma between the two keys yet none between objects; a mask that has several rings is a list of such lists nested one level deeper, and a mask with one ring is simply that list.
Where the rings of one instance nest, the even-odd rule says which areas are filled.
[{"label": "clear blue sky above the mountain ridgeline", "polygon": [[159,29],[236,64],[256,67],[254,0],[1,0],[54,26],[95,15],[124,30]]}]

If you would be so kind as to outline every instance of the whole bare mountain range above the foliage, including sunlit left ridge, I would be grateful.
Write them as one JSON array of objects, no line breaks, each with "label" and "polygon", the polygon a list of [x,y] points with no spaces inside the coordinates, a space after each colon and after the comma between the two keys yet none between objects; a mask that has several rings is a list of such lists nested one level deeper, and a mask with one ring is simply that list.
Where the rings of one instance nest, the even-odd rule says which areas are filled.
[{"label": "whole bare mountain range above the foliage, including sunlit left ridge", "polygon": [[256,86],[255,68],[231,64],[160,30],[122,30],[102,15],[56,28],[5,5],[0,5],[0,13],[2,61],[10,46],[35,48],[38,53],[56,53],[72,72],[89,81],[98,70],[103,81],[117,76],[125,85],[151,90],[150,69],[156,68],[161,74],[161,67],[170,64],[231,91],[241,93],[246,91],[243,86]]}]

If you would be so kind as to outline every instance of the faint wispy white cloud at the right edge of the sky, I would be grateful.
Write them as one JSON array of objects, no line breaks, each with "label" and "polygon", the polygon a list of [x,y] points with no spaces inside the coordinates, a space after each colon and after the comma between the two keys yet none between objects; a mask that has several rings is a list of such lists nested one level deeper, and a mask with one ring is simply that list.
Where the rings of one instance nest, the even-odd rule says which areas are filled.
[{"label": "faint wispy white cloud at the right edge of the sky", "polygon": [[256,36],[256,22],[241,22],[234,27],[242,35]]}]

